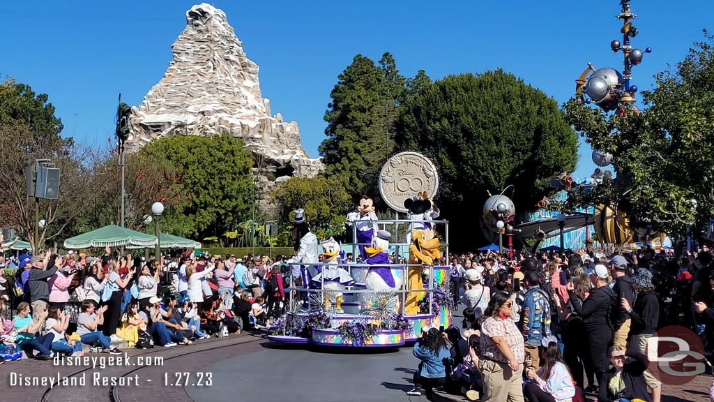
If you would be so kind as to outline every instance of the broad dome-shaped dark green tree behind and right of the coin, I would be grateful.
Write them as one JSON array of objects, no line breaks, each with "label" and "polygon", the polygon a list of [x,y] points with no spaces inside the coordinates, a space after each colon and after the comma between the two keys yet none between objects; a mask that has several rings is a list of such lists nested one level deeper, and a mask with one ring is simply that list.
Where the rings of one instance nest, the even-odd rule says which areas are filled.
[{"label": "broad dome-shaped dark green tree behind and right of the coin", "polygon": [[530,210],[553,191],[550,177],[578,160],[578,138],[558,104],[501,70],[434,82],[400,107],[396,129],[398,147],[440,167],[441,216],[462,247],[475,245],[487,191],[514,185],[516,209]]}]

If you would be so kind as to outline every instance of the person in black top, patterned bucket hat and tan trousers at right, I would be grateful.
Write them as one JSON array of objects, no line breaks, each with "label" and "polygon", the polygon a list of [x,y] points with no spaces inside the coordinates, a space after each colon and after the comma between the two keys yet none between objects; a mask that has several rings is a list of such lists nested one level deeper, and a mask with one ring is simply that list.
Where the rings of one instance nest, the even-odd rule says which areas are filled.
[{"label": "person in black top, patterned bucket hat and tan trousers at right", "polygon": [[[637,289],[635,305],[630,306],[628,300],[624,298],[620,300],[620,304],[632,320],[630,350],[645,354],[647,343],[657,329],[660,315],[659,296],[653,292],[652,273],[645,268],[637,270],[632,281]],[[644,376],[648,388],[652,390],[652,401],[660,402],[662,383],[649,371],[645,371]]]}]

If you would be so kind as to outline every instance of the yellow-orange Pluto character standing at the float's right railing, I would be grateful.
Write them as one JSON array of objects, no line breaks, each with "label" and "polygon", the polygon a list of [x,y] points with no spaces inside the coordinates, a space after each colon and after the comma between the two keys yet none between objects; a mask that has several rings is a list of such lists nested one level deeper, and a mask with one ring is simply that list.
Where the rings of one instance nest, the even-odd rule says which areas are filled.
[{"label": "yellow-orange Pluto character standing at the float's right railing", "polygon": [[[439,253],[439,240],[436,237],[436,232],[431,229],[431,227],[411,230],[408,268],[409,290],[423,290],[424,284],[421,280],[422,268],[425,265],[433,265],[436,258],[441,258],[441,253]],[[404,313],[406,315],[417,315],[419,313],[418,302],[422,297],[423,292],[408,293],[404,301]]]}]

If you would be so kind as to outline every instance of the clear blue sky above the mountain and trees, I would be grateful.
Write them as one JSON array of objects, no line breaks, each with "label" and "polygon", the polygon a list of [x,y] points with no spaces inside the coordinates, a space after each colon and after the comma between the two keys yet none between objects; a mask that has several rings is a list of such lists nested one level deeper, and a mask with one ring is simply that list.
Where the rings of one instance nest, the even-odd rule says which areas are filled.
[{"label": "clear blue sky above the mountain and trees", "polygon": [[[64,136],[105,145],[114,133],[116,97],[138,105],[163,77],[171,44],[195,1],[4,1],[0,74],[49,94]],[[431,79],[501,67],[558,104],[592,62],[621,69],[610,41],[622,39],[618,0],[558,1],[216,1],[248,58],[260,67],[272,113],[298,122],[311,157],[325,138],[323,115],[337,74],[355,54],[391,52],[400,72]],[[703,40],[714,2],[633,0],[645,54],[633,69],[640,90],[653,74]],[[640,107],[642,105],[640,104]],[[595,165],[580,146],[577,177]]]}]

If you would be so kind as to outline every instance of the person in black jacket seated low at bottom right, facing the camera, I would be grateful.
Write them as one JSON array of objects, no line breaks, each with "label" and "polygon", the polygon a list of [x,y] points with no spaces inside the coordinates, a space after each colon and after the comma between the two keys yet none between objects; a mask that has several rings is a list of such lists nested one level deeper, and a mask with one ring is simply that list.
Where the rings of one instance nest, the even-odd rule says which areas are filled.
[{"label": "person in black jacket seated low at bottom right, facing the camera", "polygon": [[[613,345],[608,350],[608,356],[613,368],[610,368],[603,375],[603,383],[600,384],[600,392],[598,393],[598,402],[619,401],[620,398],[628,401],[637,398],[652,402],[652,398],[647,392],[647,383],[644,376],[647,368],[645,355],[632,350],[625,352],[618,346]],[[632,358],[632,360],[625,362],[626,358]]]}]

